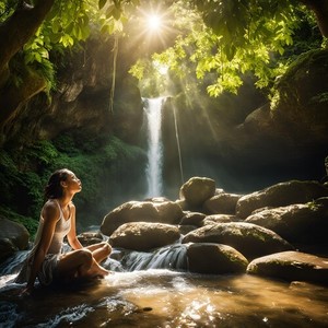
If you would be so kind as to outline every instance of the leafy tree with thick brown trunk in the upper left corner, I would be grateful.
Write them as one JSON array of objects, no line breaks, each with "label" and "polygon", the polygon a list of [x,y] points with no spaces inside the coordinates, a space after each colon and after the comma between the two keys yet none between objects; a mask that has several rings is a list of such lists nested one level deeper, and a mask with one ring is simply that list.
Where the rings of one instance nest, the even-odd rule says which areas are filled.
[{"label": "leafy tree with thick brown trunk in the upper left corner", "polygon": [[[28,0],[26,0],[28,1]],[[31,97],[55,85],[51,54],[122,28],[138,0],[4,0],[0,2],[0,128]]]}]

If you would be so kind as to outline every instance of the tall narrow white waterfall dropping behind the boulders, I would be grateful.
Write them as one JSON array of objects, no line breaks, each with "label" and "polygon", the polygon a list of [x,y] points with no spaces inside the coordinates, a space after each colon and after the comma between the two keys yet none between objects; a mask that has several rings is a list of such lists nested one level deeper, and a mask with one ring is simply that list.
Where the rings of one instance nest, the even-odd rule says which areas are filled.
[{"label": "tall narrow white waterfall dropping behind the boulders", "polygon": [[148,165],[147,165],[147,197],[162,196],[162,106],[164,97],[145,99],[144,112],[147,115],[148,131]]}]

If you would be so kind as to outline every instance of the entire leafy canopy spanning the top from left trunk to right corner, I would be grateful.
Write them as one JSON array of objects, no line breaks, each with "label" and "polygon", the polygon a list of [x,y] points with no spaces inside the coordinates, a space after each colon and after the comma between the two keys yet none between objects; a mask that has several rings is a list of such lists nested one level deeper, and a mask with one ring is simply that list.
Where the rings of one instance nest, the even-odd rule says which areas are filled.
[{"label": "entire leafy canopy spanning the top from left trunk to right corner", "polygon": [[[91,28],[109,35],[136,37],[139,34],[145,38],[148,32],[142,28],[147,28],[144,20],[152,12],[163,20],[162,31],[155,36],[162,40],[160,48],[165,50],[155,55],[155,65],[165,65],[177,75],[191,69],[198,79],[210,77],[207,89],[212,96],[225,90],[235,93],[247,72],[256,77],[259,87],[271,86],[285,71],[289,62],[280,58],[294,44],[304,22],[314,33],[327,36],[328,5],[321,2],[34,0],[26,4],[22,0],[1,1],[0,46],[5,51],[0,55],[0,91],[5,93],[0,105],[5,105],[5,109],[1,110],[0,122],[4,124],[22,102],[56,85],[54,58],[86,39]],[[168,40],[175,38],[175,45],[169,47]],[[149,42],[156,43],[153,37]],[[147,67],[139,65],[132,73],[142,78],[143,72],[150,72]],[[14,92],[20,96],[10,102],[7,94],[12,96]]]}]

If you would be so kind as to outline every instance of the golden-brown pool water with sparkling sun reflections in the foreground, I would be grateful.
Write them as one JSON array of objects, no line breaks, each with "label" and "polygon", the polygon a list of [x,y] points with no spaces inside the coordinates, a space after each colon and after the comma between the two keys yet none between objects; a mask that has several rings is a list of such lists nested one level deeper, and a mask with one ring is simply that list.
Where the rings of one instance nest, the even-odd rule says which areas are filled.
[{"label": "golden-brown pool water with sparkling sun reflections in the foreground", "polygon": [[3,286],[8,279],[0,290],[5,327],[328,327],[328,289],[307,283],[148,270],[38,289],[26,302],[17,285]]}]

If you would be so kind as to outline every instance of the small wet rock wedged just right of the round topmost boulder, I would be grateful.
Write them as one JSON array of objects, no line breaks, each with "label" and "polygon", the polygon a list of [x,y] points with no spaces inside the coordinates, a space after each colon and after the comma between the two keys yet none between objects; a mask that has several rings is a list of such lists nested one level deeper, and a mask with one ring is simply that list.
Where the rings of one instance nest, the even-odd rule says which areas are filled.
[{"label": "small wet rock wedged just right of the round topmost boulder", "polygon": [[242,195],[221,192],[206,200],[203,209],[209,214],[235,214]]}]

